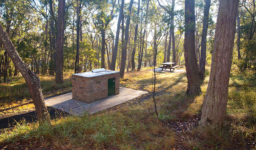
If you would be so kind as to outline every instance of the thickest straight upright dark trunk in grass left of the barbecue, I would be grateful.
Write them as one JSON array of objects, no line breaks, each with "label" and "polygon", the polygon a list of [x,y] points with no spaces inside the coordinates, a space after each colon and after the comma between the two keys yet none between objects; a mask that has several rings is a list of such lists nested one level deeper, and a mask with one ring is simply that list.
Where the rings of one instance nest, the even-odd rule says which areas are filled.
[{"label": "thickest straight upright dark trunk in grass left of the barbecue", "polygon": [[63,46],[65,28],[65,0],[59,0],[56,36],[56,83],[63,83]]}]

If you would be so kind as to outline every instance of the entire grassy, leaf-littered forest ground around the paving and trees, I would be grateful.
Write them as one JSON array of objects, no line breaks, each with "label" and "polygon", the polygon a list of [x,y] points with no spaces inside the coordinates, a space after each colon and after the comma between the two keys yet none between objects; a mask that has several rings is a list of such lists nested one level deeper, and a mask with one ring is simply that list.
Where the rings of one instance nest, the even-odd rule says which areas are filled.
[{"label": "entire grassy, leaf-littered forest ground around the paving and trees", "polygon": [[[149,94],[84,117],[59,117],[40,126],[37,122],[18,123],[1,132],[0,149],[256,149],[256,84],[234,71],[225,126],[220,130],[198,127],[209,74],[208,67],[201,95],[186,96],[186,73],[157,73],[157,117],[152,70],[126,72],[120,86]],[[10,80],[9,85],[0,84],[2,117],[33,110],[24,80]],[[40,80],[45,97],[71,90],[70,74],[65,75],[62,85],[49,76]]]}]

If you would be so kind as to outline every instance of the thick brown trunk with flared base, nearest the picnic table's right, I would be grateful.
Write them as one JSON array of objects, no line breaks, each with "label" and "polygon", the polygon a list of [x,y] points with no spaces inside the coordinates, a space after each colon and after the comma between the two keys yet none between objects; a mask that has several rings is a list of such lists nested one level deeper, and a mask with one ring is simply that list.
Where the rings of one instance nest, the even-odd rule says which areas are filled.
[{"label": "thick brown trunk with flared base, nearest the picnic table's right", "polygon": [[195,54],[195,0],[185,0],[185,66],[188,78],[187,95],[201,92],[199,69]]}]

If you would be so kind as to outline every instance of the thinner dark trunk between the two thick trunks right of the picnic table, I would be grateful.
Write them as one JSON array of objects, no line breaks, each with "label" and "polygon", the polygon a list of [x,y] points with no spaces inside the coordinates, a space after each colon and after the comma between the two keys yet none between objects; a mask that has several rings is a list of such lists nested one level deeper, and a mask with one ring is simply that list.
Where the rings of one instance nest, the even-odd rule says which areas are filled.
[{"label": "thinner dark trunk between the two thick trunks right of the picnic table", "polygon": [[199,76],[201,80],[205,78],[206,39],[207,39],[207,29],[208,29],[208,22],[209,22],[210,5],[211,5],[211,0],[205,0],[204,24],[203,24],[203,31],[202,31],[201,57],[200,57],[200,70],[199,70]]}]

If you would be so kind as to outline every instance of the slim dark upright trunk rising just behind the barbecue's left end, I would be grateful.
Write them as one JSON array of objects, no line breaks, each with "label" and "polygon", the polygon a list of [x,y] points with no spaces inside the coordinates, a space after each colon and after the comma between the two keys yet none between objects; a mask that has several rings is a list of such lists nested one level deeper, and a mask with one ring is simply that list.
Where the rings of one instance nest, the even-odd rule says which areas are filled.
[{"label": "slim dark upright trunk rising just behind the barbecue's left end", "polygon": [[80,66],[80,14],[81,14],[81,1],[77,0],[76,5],[76,55],[75,55],[75,73],[81,72],[81,66]]}]

